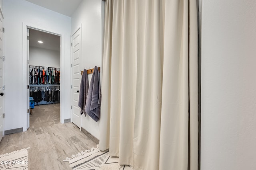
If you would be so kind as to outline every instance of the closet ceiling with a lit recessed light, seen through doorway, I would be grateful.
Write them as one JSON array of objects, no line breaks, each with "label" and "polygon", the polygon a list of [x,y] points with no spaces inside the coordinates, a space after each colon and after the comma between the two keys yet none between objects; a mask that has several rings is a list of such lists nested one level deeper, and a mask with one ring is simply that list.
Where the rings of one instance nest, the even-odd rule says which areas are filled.
[{"label": "closet ceiling with a lit recessed light, seen through doorway", "polygon": [[[43,43],[38,43],[43,41]],[[60,36],[29,29],[29,46],[60,51]]]}]

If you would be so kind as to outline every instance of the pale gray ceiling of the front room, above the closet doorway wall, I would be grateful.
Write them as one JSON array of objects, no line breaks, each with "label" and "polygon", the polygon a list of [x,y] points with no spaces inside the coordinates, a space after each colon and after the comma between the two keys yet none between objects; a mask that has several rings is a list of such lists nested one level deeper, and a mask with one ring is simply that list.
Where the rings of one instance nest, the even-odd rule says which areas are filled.
[{"label": "pale gray ceiling of the front room, above the closet doorway wall", "polygon": [[82,0],[26,0],[49,10],[71,17]]}]

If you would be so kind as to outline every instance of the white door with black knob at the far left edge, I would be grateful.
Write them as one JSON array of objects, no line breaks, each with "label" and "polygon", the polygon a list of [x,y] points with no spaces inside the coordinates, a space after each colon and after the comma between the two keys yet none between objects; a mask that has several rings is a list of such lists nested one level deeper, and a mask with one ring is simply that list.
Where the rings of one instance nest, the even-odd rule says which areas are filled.
[{"label": "white door with black knob at the far left edge", "polygon": [[2,10],[0,9],[0,141],[4,136],[4,43],[3,43],[3,20]]}]

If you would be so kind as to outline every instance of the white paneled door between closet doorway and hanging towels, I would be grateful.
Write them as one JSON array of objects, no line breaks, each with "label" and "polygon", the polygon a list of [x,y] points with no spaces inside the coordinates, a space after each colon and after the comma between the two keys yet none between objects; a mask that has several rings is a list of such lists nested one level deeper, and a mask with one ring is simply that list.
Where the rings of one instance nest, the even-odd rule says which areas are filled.
[{"label": "white paneled door between closet doorway and hanging towels", "polygon": [[72,122],[81,128],[80,107],[78,97],[81,81],[81,28],[72,35]]}]

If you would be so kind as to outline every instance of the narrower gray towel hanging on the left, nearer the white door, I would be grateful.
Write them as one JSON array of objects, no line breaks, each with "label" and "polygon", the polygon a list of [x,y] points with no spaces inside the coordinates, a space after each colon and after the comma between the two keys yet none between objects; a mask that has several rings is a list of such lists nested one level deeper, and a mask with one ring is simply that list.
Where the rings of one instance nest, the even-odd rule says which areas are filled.
[{"label": "narrower gray towel hanging on the left, nearer the white door", "polygon": [[88,74],[87,74],[87,70],[84,69],[84,72],[83,72],[82,78],[81,78],[81,83],[80,83],[78,106],[81,108],[81,111],[80,111],[81,115],[84,113],[85,116],[86,116],[86,111],[85,111],[84,107],[86,104],[88,89],[89,89]]}]

